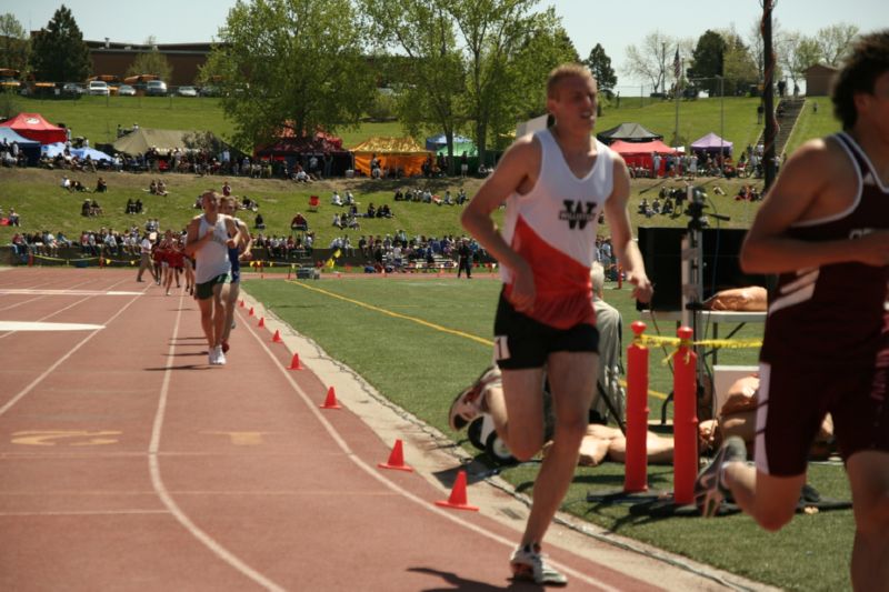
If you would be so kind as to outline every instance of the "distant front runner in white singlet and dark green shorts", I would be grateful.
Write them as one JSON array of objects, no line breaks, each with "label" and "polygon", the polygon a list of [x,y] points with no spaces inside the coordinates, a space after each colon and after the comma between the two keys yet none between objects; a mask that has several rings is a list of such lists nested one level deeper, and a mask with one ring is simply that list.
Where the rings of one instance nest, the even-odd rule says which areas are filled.
[{"label": "distant front runner in white singlet and dark green shorts", "polygon": [[240,234],[231,217],[219,213],[219,195],[206,191],[201,195],[203,214],[188,224],[186,254],[196,259],[194,298],[201,309],[201,327],[209,345],[211,364],[223,365],[222,335],[226,323],[228,288],[231,281],[229,249],[238,245]]}]

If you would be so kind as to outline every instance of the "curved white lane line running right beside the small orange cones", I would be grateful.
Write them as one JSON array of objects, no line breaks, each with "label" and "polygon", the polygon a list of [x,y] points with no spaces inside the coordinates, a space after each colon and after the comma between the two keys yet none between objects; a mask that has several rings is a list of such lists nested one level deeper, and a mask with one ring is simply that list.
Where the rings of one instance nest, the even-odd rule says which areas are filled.
[{"label": "curved white lane line running right beside the small orange cones", "polygon": [[[363,470],[370,476],[372,476],[373,479],[376,479],[377,481],[379,481],[380,483],[382,483],[383,485],[386,485],[387,488],[389,488],[393,492],[396,492],[396,493],[407,498],[408,500],[419,504],[420,506],[422,506],[423,509],[428,510],[429,512],[438,514],[439,516],[444,518],[447,520],[450,520],[451,522],[455,522],[455,523],[457,523],[457,524],[459,524],[459,525],[461,525],[461,526],[463,526],[466,529],[469,529],[469,530],[471,530],[472,532],[475,532],[477,534],[480,534],[480,535],[486,536],[486,538],[488,538],[488,539],[490,539],[490,540],[492,540],[495,542],[498,542],[498,543],[507,546],[510,550],[516,548],[516,542],[515,541],[511,541],[511,540],[507,539],[506,536],[501,536],[501,535],[497,534],[496,532],[491,532],[491,531],[489,531],[488,529],[486,529],[483,526],[480,526],[478,524],[473,524],[472,522],[463,520],[460,516],[456,515],[453,513],[453,511],[441,509],[441,508],[434,505],[431,501],[424,500],[424,499],[422,499],[422,498],[420,498],[418,495],[414,495],[410,491],[399,486],[397,483],[393,483],[392,481],[389,481],[388,479],[386,479],[386,476],[383,476],[380,473],[379,469],[377,469],[374,465],[368,464],[367,462],[361,460],[354,452],[352,452],[352,450],[349,448],[349,444],[346,442],[346,440],[343,440],[343,438],[339,434],[339,432],[337,432],[336,428],[333,428],[333,425],[327,420],[327,418],[324,418],[324,415],[321,413],[321,410],[319,409],[318,404],[316,404],[316,402],[312,401],[312,399],[306,393],[306,391],[302,390],[302,388],[299,384],[297,384],[297,382],[290,375],[290,371],[284,368],[284,364],[281,364],[278,361],[278,358],[276,358],[274,353],[268,347],[268,344],[266,343],[266,340],[263,340],[257,333],[257,331],[253,329],[253,327],[249,322],[246,322],[246,320],[243,320],[243,319],[242,319],[241,327],[247,327],[248,328],[248,330],[250,331],[250,334],[253,335],[253,338],[257,340],[257,342],[262,347],[262,349],[266,351],[266,353],[272,360],[272,363],[278,369],[278,371],[281,373],[281,375],[284,377],[284,379],[293,388],[293,391],[296,391],[296,393],[300,397],[300,399],[302,399],[303,403],[306,403],[306,407],[309,408],[309,411],[316,417],[316,419],[321,423],[321,425],[323,425],[323,428],[330,434],[330,438],[333,439],[333,441],[337,443],[337,445],[340,448],[340,450],[342,450],[343,454],[346,454],[361,470]],[[589,560],[587,560],[587,561],[589,561]],[[601,588],[602,590],[606,590],[608,592],[621,592],[621,590],[618,589],[618,588],[613,588],[613,586],[602,582],[601,580],[597,580],[596,578],[592,578],[592,576],[590,576],[590,575],[588,575],[586,573],[581,573],[581,572],[579,572],[577,570],[573,570],[571,568],[567,566],[567,565],[562,565],[562,564],[560,564],[560,563],[558,563],[556,561],[550,560],[549,563],[551,565],[557,566],[560,571],[562,571],[562,572],[565,572],[565,573],[567,573],[569,575],[572,575],[573,578],[576,578],[578,580],[582,580],[582,581],[587,582],[590,585],[595,585],[595,586]]]}]

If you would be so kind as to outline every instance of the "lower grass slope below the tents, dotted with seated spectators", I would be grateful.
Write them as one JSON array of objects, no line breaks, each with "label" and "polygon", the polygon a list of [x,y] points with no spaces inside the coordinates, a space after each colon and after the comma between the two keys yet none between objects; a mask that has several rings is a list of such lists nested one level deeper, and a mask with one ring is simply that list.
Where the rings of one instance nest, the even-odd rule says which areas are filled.
[{"label": "lower grass slope below the tents, dotted with seated spectators", "polygon": [[[452,195],[462,188],[471,198],[475,195],[481,180],[479,179],[404,179],[400,181],[372,181],[367,179],[337,179],[311,184],[293,183],[283,180],[246,179],[223,177],[196,177],[191,174],[164,174],[169,194],[166,197],[148,193],[148,184],[158,175],[136,173],[101,173],[108,182],[107,193],[71,193],[60,187],[62,175],[80,180],[90,189],[96,187],[97,173],[71,173],[70,171],[48,171],[41,169],[0,169],[0,207],[4,212],[14,208],[21,217],[21,228],[0,227],[0,244],[9,244],[12,234],[17,231],[36,232],[50,230],[63,231],[68,238],[79,235],[83,230],[99,230],[109,228],[118,231],[129,229],[136,224],[144,228],[149,218],[158,218],[162,229],[181,229],[189,219],[198,213],[194,210],[194,200],[206,189],[222,187],[228,179],[237,197],[249,195],[259,203],[259,211],[266,222],[267,235],[286,235],[290,233],[290,220],[300,211],[308,221],[309,228],[316,232],[316,245],[327,247],[336,235],[349,235],[353,245],[358,243],[361,234],[393,234],[398,229],[403,229],[408,235],[462,234],[459,215],[461,208],[433,205],[394,201],[396,187],[429,188],[433,193],[443,194],[450,190]],[[755,181],[755,180],[750,180]],[[756,212],[757,204],[747,201],[736,201],[733,194],[739,185],[747,180],[717,180],[701,178],[696,184],[703,187],[710,197],[711,210],[729,215],[730,222],[722,222],[723,228],[746,228]],[[761,184],[761,181],[755,181]],[[685,217],[655,215],[646,218],[638,213],[638,205],[642,199],[649,202],[657,195],[661,187],[671,188],[681,185],[676,180],[640,179],[632,182],[630,210],[633,228],[638,227],[683,227]],[[718,185],[726,195],[717,195],[713,188]],[[374,205],[388,203],[396,214],[393,219],[360,219],[360,230],[343,231],[332,225],[334,213],[341,213],[342,208],[330,204],[333,190],[340,194],[351,191],[358,202],[359,211],[363,212],[370,202]],[[317,194],[321,198],[321,205],[317,212],[308,211],[309,197]],[[97,199],[104,210],[104,214],[97,218],[84,218],[80,214],[81,204],[86,198]],[[126,211],[128,199],[141,199],[144,213],[128,215]],[[241,212],[241,218],[252,227],[254,214]],[[602,235],[608,235],[608,227],[601,229]]]}]

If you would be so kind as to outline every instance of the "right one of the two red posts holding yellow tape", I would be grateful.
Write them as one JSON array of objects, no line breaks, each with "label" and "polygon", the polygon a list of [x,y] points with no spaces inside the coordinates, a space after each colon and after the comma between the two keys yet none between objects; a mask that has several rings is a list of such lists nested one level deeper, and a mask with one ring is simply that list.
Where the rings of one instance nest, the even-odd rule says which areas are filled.
[{"label": "right one of the two red posts holding yellow tape", "polygon": [[681,341],[673,354],[673,501],[690,504],[698,474],[698,355],[691,347],[691,328],[680,327],[676,334]]}]

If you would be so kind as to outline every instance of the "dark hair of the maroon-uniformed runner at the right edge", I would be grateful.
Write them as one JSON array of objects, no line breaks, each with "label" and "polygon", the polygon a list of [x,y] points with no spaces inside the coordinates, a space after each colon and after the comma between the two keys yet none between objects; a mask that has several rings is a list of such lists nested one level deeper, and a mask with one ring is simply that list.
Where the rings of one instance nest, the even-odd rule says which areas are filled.
[{"label": "dark hair of the maroon-uniformed runner at the right edge", "polygon": [[859,92],[872,93],[877,78],[889,70],[889,29],[861,37],[852,47],[842,70],[833,82],[833,114],[842,123],[843,130],[855,127],[858,110],[855,96]]}]

